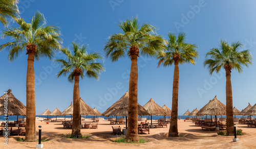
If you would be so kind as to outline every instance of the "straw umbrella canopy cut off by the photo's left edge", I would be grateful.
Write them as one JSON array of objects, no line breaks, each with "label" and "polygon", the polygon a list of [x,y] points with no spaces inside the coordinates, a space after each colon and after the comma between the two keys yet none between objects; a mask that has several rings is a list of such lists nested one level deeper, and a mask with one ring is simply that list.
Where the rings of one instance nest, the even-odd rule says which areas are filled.
[{"label": "straw umbrella canopy cut off by the photo's left edge", "polygon": [[[5,103],[6,103],[6,98],[8,97],[8,105],[7,105],[7,113],[5,113]],[[17,100],[17,98],[12,94],[12,90],[8,89],[6,94],[2,95],[0,97],[0,115],[17,115],[17,120],[18,120],[18,115],[26,115],[26,107]]]}]

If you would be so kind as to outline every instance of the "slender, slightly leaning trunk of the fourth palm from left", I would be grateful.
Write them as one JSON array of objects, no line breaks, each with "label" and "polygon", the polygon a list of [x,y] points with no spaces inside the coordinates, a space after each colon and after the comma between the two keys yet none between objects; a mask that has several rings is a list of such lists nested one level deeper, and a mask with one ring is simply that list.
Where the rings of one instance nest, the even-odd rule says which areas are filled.
[{"label": "slender, slightly leaning trunk of the fourth palm from left", "polygon": [[170,116],[169,137],[178,137],[178,92],[179,92],[179,61],[174,62],[173,103]]}]

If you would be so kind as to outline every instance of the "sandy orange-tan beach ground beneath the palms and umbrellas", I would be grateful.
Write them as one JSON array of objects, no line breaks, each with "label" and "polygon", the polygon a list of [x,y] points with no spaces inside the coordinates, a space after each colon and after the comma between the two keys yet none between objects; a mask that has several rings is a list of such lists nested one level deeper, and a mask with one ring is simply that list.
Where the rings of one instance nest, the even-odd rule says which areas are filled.
[{"label": "sandy orange-tan beach ground beneath the palms and umbrellas", "polygon": [[[70,139],[62,137],[64,134],[71,134],[71,129],[63,129],[61,122],[41,121],[42,118],[36,118],[36,131],[38,137],[38,126],[42,126],[42,138],[50,141],[42,142],[44,148],[256,148],[255,135],[256,128],[247,125],[237,124],[237,129],[242,129],[243,136],[238,136],[240,141],[232,142],[233,136],[218,136],[219,131],[206,131],[201,127],[195,126],[192,121],[178,120],[179,136],[168,138],[169,126],[166,128],[150,129],[150,134],[139,135],[149,141],[140,144],[116,143],[112,134],[112,125],[108,120],[100,120],[98,129],[81,129],[82,135],[89,135],[89,138]],[[82,121],[91,122],[86,119]],[[153,122],[154,123],[154,122]],[[155,121],[155,123],[157,123]],[[120,125],[122,128],[125,125]],[[1,129],[1,128],[0,128]],[[4,144],[1,136],[0,148],[35,148],[37,142],[19,142],[16,141],[20,136],[9,136],[8,145]],[[22,136],[25,137],[25,136]]]}]

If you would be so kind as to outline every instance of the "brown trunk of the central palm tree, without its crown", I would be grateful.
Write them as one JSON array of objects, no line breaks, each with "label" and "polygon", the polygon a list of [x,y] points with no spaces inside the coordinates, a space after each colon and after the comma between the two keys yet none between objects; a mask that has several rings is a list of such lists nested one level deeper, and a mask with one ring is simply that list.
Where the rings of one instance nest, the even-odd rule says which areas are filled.
[{"label": "brown trunk of the central palm tree, without its crown", "polygon": [[132,65],[129,83],[129,109],[128,109],[128,129],[126,139],[134,142],[139,141],[138,137],[138,65],[137,55],[131,55]]}]

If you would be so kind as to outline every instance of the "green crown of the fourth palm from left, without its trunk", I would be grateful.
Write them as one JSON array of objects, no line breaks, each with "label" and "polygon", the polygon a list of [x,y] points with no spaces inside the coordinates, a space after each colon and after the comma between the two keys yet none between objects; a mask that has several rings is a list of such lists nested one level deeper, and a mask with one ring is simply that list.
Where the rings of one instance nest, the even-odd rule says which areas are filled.
[{"label": "green crown of the fourth palm from left, without its trunk", "polygon": [[198,58],[196,44],[185,43],[185,33],[180,33],[178,37],[175,33],[168,33],[169,40],[164,52],[158,55],[158,66],[172,65],[176,60],[179,64],[192,63],[195,65],[195,58]]}]

